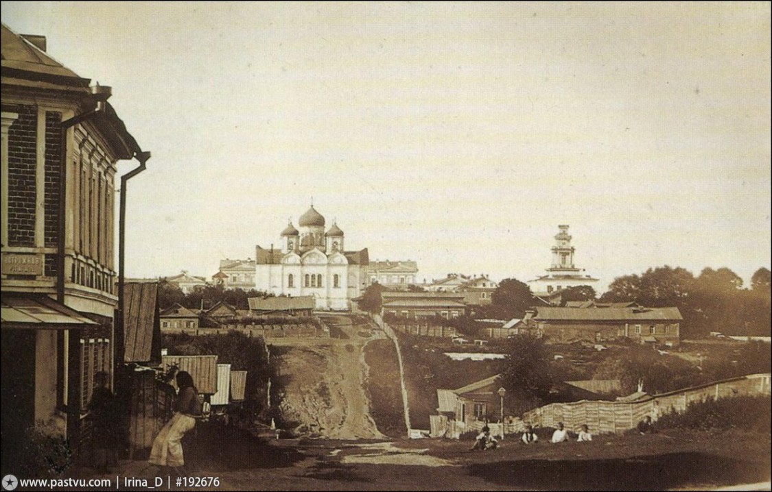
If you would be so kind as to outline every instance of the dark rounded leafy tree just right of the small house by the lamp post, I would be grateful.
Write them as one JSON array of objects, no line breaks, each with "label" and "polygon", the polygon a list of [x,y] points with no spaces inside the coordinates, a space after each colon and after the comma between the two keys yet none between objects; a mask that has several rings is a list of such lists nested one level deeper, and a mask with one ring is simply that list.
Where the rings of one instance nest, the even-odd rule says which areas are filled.
[{"label": "dark rounded leafy tree just right of the small house by the lamp post", "polygon": [[552,387],[550,359],[544,339],[533,335],[515,335],[507,339],[506,353],[500,380],[507,390],[507,407],[523,411],[543,403]]}]

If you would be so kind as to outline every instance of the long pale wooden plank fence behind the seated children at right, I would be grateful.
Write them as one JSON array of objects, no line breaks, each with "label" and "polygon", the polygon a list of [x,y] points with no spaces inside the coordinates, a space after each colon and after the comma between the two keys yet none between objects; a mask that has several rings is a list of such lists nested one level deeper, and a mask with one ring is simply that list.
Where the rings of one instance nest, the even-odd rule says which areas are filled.
[{"label": "long pale wooden plank fence behind the seated children at right", "polygon": [[[523,423],[554,427],[564,423],[569,430],[587,424],[593,433],[622,433],[638,426],[645,416],[652,420],[669,412],[683,412],[691,402],[709,397],[770,395],[770,374],[752,374],[706,385],[679,389],[661,395],[645,396],[632,402],[588,401],[552,403],[523,414]],[[521,431],[522,429],[517,429]]]}]

